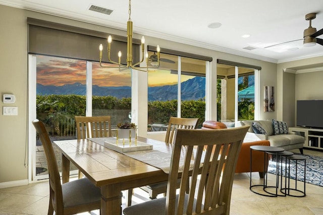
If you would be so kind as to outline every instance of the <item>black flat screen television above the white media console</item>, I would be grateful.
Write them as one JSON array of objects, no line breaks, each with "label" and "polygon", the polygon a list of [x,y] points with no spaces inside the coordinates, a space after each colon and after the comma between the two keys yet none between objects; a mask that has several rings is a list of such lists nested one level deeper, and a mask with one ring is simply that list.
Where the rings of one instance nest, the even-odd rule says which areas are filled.
[{"label": "black flat screen television above the white media console", "polygon": [[323,129],[323,100],[297,100],[297,126]]}]

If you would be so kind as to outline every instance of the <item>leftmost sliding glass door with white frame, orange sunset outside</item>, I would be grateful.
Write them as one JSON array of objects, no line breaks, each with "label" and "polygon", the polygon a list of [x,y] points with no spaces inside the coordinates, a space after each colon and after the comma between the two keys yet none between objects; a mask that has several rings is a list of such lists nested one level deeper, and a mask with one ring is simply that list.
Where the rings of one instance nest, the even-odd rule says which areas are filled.
[{"label": "leftmost sliding glass door with white frame, orange sunset outside", "polygon": [[[30,55],[29,63],[28,121],[42,121],[51,141],[76,138],[75,116],[109,115],[114,130],[121,121],[130,122],[130,70],[120,72],[95,62],[43,55]],[[30,128],[28,142],[29,178],[48,178],[41,142]],[[57,151],[59,168],[61,157]],[[77,174],[73,165],[71,170]]]}]

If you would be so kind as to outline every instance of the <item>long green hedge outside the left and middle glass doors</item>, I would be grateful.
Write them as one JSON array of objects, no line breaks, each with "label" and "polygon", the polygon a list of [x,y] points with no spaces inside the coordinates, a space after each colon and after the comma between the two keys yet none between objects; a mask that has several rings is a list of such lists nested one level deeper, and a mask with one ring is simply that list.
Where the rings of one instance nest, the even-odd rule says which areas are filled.
[{"label": "long green hedge outside the left and middle glass doors", "polygon": [[[37,95],[36,106],[37,118],[52,128],[52,134],[73,134],[75,133],[74,116],[85,116],[86,96]],[[93,110],[125,110],[127,112],[131,110],[131,98],[92,96],[92,106]],[[201,127],[205,119],[204,100],[182,101],[181,109],[183,118],[199,118],[197,128]],[[172,116],[177,116],[177,100],[148,102],[148,124],[168,124]]]}]

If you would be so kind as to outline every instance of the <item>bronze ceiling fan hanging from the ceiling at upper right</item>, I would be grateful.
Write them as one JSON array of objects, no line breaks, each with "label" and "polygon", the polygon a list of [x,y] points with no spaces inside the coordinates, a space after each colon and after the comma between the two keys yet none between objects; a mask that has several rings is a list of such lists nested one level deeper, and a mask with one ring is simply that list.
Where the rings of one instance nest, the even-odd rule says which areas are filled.
[{"label": "bronze ceiling fan hanging from the ceiling at upper right", "polygon": [[274,46],[283,45],[286,43],[295,42],[299,40],[303,40],[304,46],[314,46],[316,43],[323,45],[323,39],[316,38],[317,36],[320,36],[323,34],[323,28],[320,29],[319,31],[316,31],[316,28],[312,27],[312,20],[315,18],[316,18],[316,13],[310,13],[305,15],[305,20],[309,20],[309,27],[304,30],[303,39],[296,39],[288,42],[282,42],[275,45],[266,46],[264,48],[271,48]]}]

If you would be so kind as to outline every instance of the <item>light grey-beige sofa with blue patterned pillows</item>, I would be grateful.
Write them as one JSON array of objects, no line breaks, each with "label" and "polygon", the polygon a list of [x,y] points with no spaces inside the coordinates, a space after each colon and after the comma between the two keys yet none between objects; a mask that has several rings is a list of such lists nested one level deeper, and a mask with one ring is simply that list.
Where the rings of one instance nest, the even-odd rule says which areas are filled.
[{"label": "light grey-beige sofa with blue patterned pillows", "polygon": [[245,120],[238,121],[235,127],[249,125],[250,128],[244,142],[268,140],[271,146],[281,147],[285,150],[299,149],[303,154],[305,138],[288,132],[287,124],[277,120]]}]

